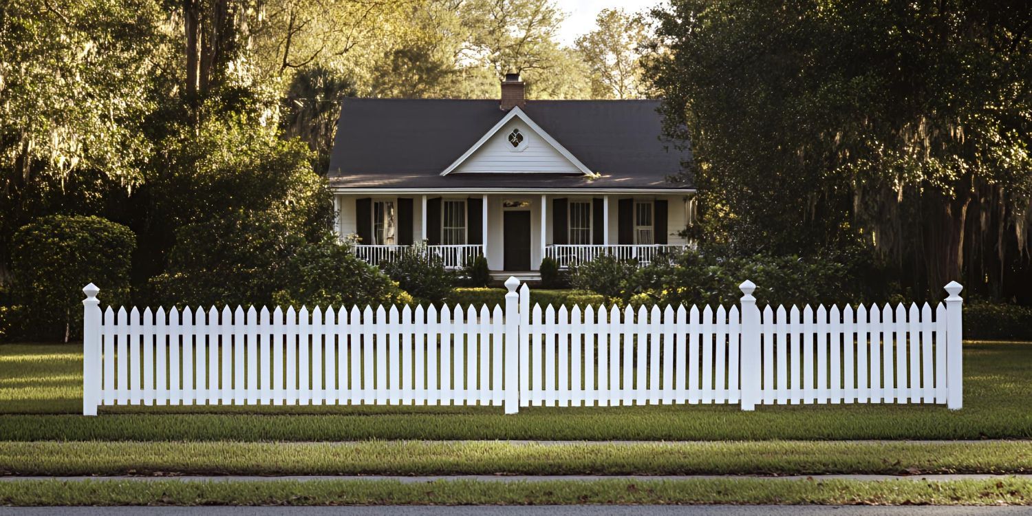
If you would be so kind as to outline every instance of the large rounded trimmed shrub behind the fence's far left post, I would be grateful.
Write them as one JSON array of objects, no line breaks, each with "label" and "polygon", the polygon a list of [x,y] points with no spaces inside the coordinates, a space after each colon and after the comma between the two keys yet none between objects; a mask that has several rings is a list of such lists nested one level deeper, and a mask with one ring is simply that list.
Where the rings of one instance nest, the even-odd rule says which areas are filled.
[{"label": "large rounded trimmed shrub behind the fence's far left post", "polygon": [[129,272],[136,235],[99,217],[55,215],[14,233],[14,302],[24,307],[26,336],[40,341],[77,335],[83,328],[83,287],[100,287],[103,304],[129,301]]}]

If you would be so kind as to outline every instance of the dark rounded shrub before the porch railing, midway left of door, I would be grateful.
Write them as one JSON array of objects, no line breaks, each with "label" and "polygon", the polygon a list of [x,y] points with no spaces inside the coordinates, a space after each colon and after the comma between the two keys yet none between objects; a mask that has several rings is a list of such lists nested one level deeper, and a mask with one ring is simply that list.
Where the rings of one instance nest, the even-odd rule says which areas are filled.
[{"label": "dark rounded shrub before the porch railing, midway left of door", "polygon": [[393,261],[382,263],[380,267],[417,302],[440,303],[448,298],[455,286],[455,275],[445,268],[440,256],[427,253],[423,245],[406,249]]}]

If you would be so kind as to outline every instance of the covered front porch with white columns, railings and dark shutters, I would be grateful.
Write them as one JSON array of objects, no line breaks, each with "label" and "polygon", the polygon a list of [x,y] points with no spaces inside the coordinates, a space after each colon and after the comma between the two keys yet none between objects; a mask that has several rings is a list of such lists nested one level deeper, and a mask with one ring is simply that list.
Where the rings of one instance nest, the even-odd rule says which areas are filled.
[{"label": "covered front porch with white columns, railings and dark shutters", "polygon": [[602,255],[649,263],[685,249],[695,201],[683,192],[336,193],[335,230],[372,264],[414,244],[452,269],[479,255],[491,271],[568,268]]}]

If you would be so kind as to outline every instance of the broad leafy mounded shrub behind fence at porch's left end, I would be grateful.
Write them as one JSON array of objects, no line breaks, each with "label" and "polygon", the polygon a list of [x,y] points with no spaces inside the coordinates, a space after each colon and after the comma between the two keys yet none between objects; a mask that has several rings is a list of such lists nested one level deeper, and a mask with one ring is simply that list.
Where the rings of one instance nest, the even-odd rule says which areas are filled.
[{"label": "broad leafy mounded shrub behind fence at porch's left end", "polygon": [[350,309],[413,301],[397,283],[332,236],[302,247],[287,263],[282,279],[285,287],[272,294],[272,302],[281,307]]}]

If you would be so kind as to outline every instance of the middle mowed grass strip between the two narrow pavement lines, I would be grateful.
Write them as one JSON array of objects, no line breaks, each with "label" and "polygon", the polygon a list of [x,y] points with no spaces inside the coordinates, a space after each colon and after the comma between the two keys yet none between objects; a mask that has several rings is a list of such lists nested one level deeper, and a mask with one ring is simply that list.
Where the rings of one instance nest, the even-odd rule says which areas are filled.
[{"label": "middle mowed grass strip between the two narrow pavement lines", "polygon": [[0,474],[811,475],[1020,474],[1032,442],[537,444],[0,443]]}]

